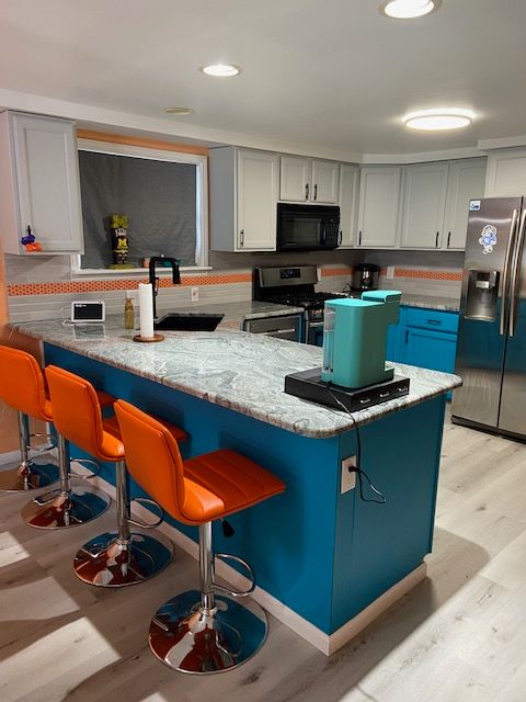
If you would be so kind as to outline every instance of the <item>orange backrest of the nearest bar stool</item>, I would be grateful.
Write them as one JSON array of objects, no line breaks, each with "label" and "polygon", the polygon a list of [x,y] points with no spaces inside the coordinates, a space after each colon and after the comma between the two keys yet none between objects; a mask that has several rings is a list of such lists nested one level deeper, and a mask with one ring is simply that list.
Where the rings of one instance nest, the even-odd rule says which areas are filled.
[{"label": "orange backrest of the nearest bar stool", "polygon": [[178,442],[165,427],[134,405],[118,399],[114,407],[129,473],[167,512],[187,523]]}]

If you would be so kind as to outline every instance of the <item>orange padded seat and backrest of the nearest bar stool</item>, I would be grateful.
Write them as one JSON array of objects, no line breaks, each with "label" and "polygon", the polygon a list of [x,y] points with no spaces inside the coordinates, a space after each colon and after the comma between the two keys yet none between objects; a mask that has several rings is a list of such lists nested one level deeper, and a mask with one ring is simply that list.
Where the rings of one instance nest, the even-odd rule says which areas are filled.
[{"label": "orange padded seat and backrest of the nearest bar stool", "polygon": [[285,490],[279,478],[236,451],[213,451],[183,463],[176,441],[157,419],[122,399],[115,414],[128,471],[179,521],[203,524]]}]

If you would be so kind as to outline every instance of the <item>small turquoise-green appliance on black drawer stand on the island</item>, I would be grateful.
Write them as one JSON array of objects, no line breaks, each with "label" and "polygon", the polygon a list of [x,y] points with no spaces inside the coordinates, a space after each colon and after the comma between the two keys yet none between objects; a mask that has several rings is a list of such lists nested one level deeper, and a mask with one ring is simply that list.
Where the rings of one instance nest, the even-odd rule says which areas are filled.
[{"label": "small turquoise-green appliance on black drawer stand on the island", "polygon": [[387,330],[398,321],[400,298],[400,291],[377,290],[325,302],[322,382],[362,388],[393,378]]}]

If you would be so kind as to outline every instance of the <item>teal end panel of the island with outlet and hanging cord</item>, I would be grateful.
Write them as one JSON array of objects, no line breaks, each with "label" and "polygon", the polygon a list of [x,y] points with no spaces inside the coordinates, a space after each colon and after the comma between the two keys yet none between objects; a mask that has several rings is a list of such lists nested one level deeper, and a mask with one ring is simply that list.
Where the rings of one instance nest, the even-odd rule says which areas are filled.
[{"label": "teal end panel of the island with outlet and hanging cord", "polygon": [[[336,508],[331,633],[414,570],[431,552],[445,395],[359,428],[362,468],[386,497],[364,502],[359,486]],[[356,453],[355,431],[340,458]],[[377,498],[364,476],[366,498]]]}]

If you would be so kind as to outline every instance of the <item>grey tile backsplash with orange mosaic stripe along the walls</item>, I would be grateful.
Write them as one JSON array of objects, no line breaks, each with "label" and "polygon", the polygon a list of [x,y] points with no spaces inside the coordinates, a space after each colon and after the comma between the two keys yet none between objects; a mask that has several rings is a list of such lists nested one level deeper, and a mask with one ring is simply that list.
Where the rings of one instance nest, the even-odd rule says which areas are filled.
[{"label": "grey tile backsplash with orange mosaic stripe along the walls", "polygon": [[[460,295],[462,252],[425,252],[395,250],[341,250],[290,253],[210,252],[213,270],[187,273],[182,284],[173,286],[161,276],[158,307],[203,306],[250,299],[252,270],[256,265],[315,264],[321,270],[319,290],[340,292],[351,282],[353,265],[376,263],[381,268],[379,286],[405,293],[456,297]],[[393,268],[388,279],[387,268]],[[12,321],[69,317],[73,299],[103,299],[107,314],[121,314],[126,291],[147,280],[144,275],[105,275],[98,278],[71,274],[70,258],[5,256],[9,310]],[[191,287],[199,288],[199,299],[191,303]]]}]

